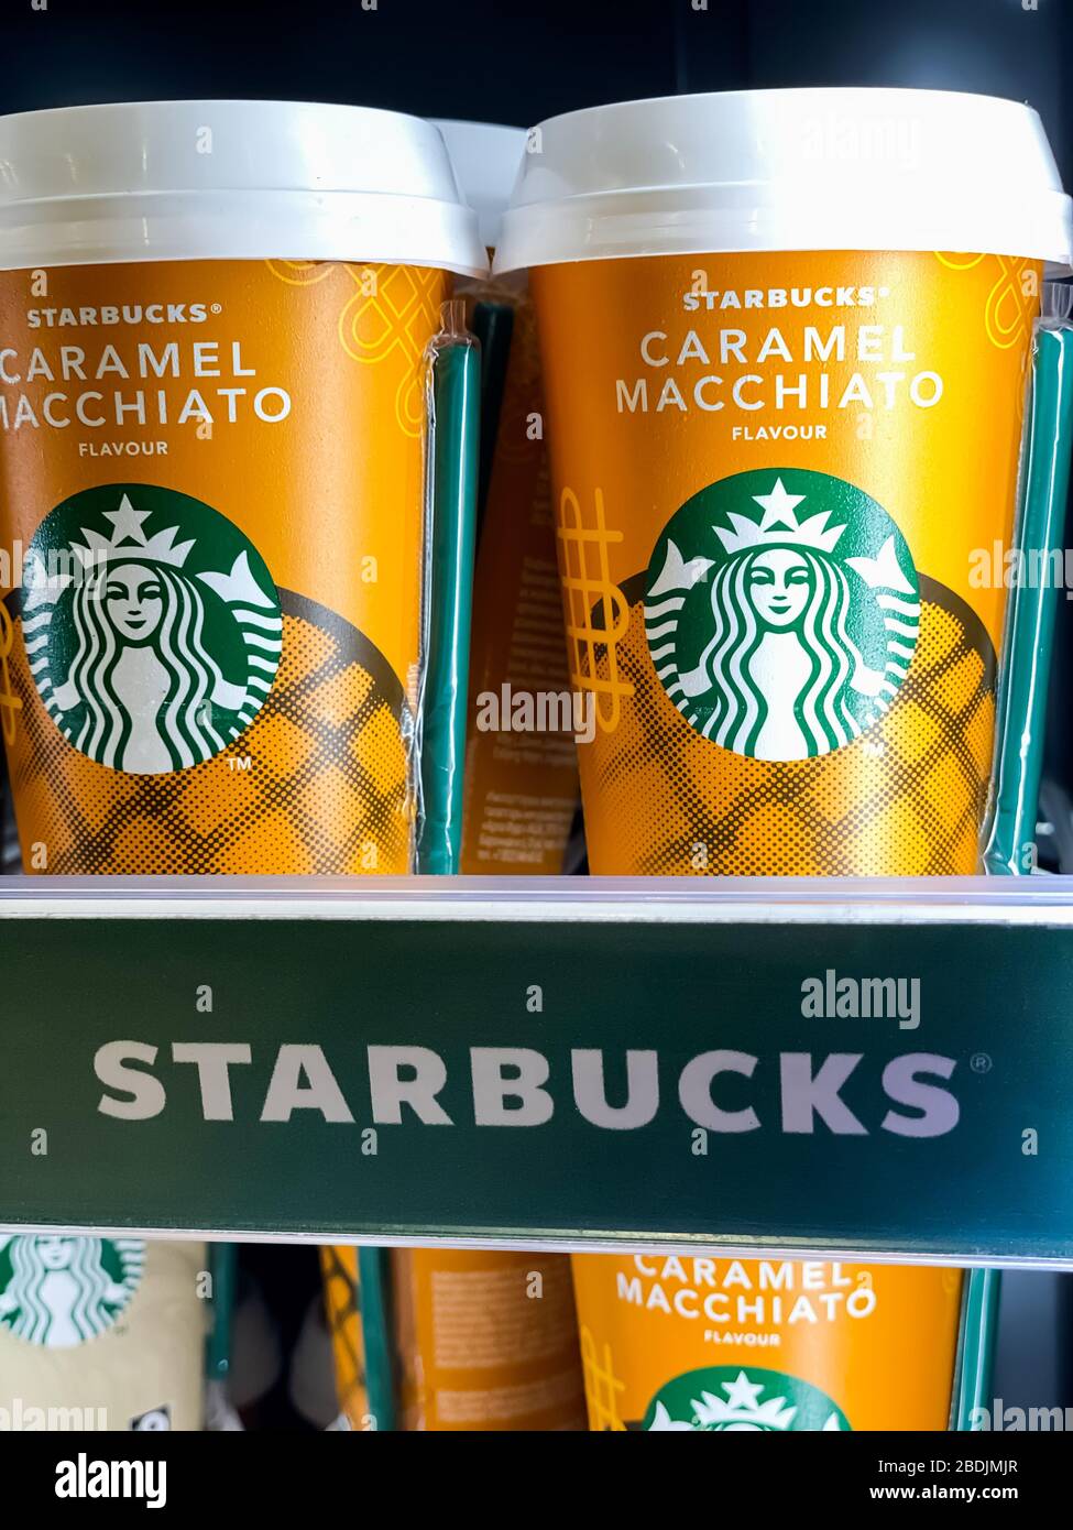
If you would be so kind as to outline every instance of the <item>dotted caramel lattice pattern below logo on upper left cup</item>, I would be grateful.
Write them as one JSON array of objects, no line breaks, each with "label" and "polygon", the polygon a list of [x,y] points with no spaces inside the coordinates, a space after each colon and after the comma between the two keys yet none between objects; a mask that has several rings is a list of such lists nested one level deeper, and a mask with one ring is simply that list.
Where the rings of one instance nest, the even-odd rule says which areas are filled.
[{"label": "dotted caramel lattice pattern below logo on upper left cup", "polygon": [[[249,728],[190,770],[133,776],[80,754],[40,702],[21,641],[9,748],[26,869],[60,875],[398,874],[412,861],[403,688],[349,623],[282,591],[283,653]],[[32,866],[41,843],[47,863]]]}]

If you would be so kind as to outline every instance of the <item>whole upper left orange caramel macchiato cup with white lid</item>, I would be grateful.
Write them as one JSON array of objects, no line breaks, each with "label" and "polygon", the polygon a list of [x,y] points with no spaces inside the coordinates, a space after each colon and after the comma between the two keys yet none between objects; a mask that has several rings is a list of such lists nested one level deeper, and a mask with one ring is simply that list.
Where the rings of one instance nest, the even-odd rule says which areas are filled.
[{"label": "whole upper left orange caramel macchiato cup with white lid", "polygon": [[389,112],[0,119],[23,863],[412,868],[427,349],[476,217]]}]

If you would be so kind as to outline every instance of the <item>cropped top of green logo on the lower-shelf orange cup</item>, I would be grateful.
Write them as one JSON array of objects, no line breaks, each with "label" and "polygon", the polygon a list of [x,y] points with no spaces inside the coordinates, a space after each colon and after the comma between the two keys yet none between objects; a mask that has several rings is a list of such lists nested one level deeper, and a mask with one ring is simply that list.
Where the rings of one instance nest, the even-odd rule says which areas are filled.
[{"label": "cropped top of green logo on the lower-shelf orange cup", "polygon": [[850,1420],[810,1382],[781,1371],[706,1366],[686,1371],[655,1394],[643,1429],[701,1429],[709,1434],[848,1431]]}]

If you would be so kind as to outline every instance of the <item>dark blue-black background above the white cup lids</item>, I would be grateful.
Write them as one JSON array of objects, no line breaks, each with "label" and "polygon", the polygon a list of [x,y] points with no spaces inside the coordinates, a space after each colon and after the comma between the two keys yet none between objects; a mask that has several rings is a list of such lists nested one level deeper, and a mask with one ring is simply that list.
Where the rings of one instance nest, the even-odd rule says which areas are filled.
[{"label": "dark blue-black background above the white cup lids", "polygon": [[934,86],[1032,101],[1070,167],[1068,0],[695,5],[703,0],[377,0],[375,11],[363,0],[0,0],[0,110],[251,95],[530,125],[680,90]]}]

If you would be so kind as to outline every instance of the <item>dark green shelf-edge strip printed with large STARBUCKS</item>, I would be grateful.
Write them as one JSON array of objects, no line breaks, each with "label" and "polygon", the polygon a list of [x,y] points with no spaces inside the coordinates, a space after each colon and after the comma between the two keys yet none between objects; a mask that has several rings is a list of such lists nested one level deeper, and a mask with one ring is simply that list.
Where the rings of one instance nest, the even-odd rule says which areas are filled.
[{"label": "dark green shelf-edge strip printed with large STARBUCKS", "polygon": [[0,918],[0,1226],[1073,1261],[1073,900],[156,907]]}]

